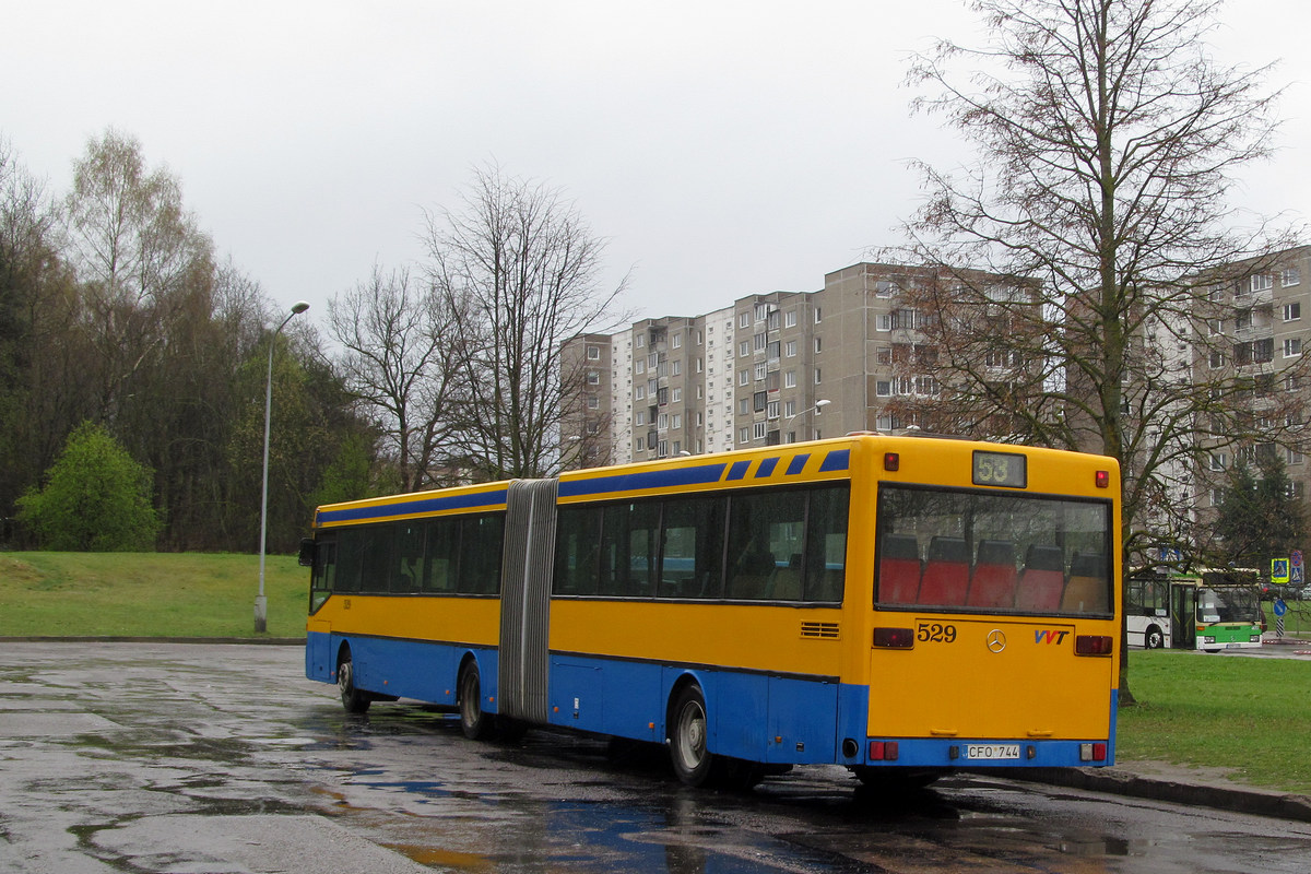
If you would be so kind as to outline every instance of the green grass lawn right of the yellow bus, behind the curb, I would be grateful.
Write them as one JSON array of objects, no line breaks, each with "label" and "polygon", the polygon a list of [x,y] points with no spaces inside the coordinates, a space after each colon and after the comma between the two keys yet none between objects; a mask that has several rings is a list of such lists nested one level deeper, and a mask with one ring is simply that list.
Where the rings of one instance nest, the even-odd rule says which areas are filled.
[{"label": "green grass lawn right of the yellow bus, behind the curb", "polygon": [[1311,663],[1131,650],[1117,759],[1234,768],[1255,786],[1311,793]]}]

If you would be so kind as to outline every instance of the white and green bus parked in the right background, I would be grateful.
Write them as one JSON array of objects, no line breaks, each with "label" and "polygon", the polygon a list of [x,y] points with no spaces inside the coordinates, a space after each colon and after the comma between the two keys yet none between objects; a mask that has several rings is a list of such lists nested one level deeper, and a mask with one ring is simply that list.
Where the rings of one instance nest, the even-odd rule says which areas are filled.
[{"label": "white and green bus parked in the right background", "polygon": [[1242,567],[1131,577],[1125,603],[1129,645],[1203,653],[1261,646],[1256,579],[1255,570]]}]

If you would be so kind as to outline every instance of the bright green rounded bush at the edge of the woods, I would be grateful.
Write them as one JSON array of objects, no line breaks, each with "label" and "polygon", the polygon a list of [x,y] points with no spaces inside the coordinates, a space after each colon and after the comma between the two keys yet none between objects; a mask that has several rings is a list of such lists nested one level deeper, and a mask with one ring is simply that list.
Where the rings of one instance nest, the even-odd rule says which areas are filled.
[{"label": "bright green rounded bush at the edge of the woods", "polygon": [[45,549],[149,550],[160,531],[153,477],[108,431],[84,422],[46,472],[46,486],[18,498],[18,519]]}]

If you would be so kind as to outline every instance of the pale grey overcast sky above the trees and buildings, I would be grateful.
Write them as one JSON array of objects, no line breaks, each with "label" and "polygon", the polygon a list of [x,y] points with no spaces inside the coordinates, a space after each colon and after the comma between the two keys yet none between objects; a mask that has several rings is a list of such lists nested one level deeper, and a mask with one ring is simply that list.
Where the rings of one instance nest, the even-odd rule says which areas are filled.
[{"label": "pale grey overcast sky above the trees and buildings", "polygon": [[[1243,204],[1302,216],[1311,7],[1222,14],[1217,55],[1281,60],[1289,86]],[[138,138],[222,256],[320,318],[418,258],[421,208],[489,161],[577,203],[640,316],[819,288],[898,240],[909,159],[965,159],[903,77],[935,35],[977,42],[961,0],[0,0],[0,136],[29,170],[63,191],[88,138]]]}]

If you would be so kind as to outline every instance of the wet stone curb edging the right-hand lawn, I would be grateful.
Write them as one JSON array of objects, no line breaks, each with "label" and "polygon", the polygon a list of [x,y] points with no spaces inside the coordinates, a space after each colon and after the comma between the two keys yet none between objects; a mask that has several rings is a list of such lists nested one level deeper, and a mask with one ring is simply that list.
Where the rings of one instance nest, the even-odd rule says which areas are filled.
[{"label": "wet stone curb edging the right-hand lawn", "polygon": [[1213,807],[1238,814],[1255,814],[1311,823],[1311,797],[1247,786],[1190,784],[1160,777],[1145,777],[1112,768],[998,768],[987,772],[1008,780],[1040,782],[1070,789],[1086,789],[1131,798],[1164,801],[1189,807]]}]

